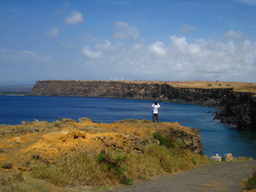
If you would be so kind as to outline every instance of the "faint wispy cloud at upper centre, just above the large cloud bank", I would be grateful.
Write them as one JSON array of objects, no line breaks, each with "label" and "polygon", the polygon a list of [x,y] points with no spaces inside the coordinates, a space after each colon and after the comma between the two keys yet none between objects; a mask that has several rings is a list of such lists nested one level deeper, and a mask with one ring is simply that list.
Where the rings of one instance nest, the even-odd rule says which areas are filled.
[{"label": "faint wispy cloud at upper centre, just above the large cloud bank", "polygon": [[138,38],[139,31],[137,30],[136,26],[130,26],[129,23],[126,22],[116,22],[115,23],[115,32],[114,38]]}]

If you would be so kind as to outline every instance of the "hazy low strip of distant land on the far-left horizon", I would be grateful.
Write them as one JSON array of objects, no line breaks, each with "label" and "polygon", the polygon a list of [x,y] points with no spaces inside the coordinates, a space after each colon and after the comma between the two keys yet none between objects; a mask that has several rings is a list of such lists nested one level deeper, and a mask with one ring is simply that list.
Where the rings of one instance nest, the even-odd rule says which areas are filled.
[{"label": "hazy low strip of distant land on the far-left horizon", "polygon": [[34,85],[0,86],[0,94],[28,94]]}]

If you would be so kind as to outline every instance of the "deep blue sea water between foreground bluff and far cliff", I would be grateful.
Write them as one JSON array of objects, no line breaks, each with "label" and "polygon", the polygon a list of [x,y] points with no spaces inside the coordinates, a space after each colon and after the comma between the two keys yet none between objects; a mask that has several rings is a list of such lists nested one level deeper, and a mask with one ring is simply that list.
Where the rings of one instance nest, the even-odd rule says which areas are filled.
[{"label": "deep blue sea water between foreground bluff and far cliff", "polygon": [[[115,98],[70,98],[36,96],[0,96],[0,125],[15,125],[22,121],[54,122],[58,118],[90,118],[92,122],[151,119],[154,101]],[[256,133],[237,130],[214,121],[215,108],[159,102],[161,122],[179,122],[200,130],[202,152],[208,157],[232,153],[235,157],[256,159]]]}]

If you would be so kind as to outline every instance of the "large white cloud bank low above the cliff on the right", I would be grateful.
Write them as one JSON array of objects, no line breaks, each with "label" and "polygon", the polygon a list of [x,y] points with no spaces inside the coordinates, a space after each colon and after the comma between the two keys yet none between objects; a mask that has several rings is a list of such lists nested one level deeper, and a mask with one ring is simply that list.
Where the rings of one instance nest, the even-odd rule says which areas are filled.
[{"label": "large white cloud bank low above the cliff on the right", "polygon": [[[239,38],[238,34],[230,37]],[[98,67],[98,73],[102,71],[109,77],[256,82],[256,43],[248,40],[198,39],[190,43],[186,37],[171,35],[169,42],[157,41],[150,46],[138,43],[127,46],[124,42],[105,40],[95,42],[92,47],[85,46],[83,50],[85,65]]]}]

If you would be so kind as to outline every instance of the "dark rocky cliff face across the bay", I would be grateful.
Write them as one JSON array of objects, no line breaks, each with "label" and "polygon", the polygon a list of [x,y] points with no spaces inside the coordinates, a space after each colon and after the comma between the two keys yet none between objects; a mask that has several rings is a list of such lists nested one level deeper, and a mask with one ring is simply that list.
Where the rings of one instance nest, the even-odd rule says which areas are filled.
[{"label": "dark rocky cliff face across the bay", "polygon": [[105,81],[38,81],[30,95],[158,100],[219,107],[223,123],[256,130],[255,94],[233,88],[174,87],[159,83]]}]

